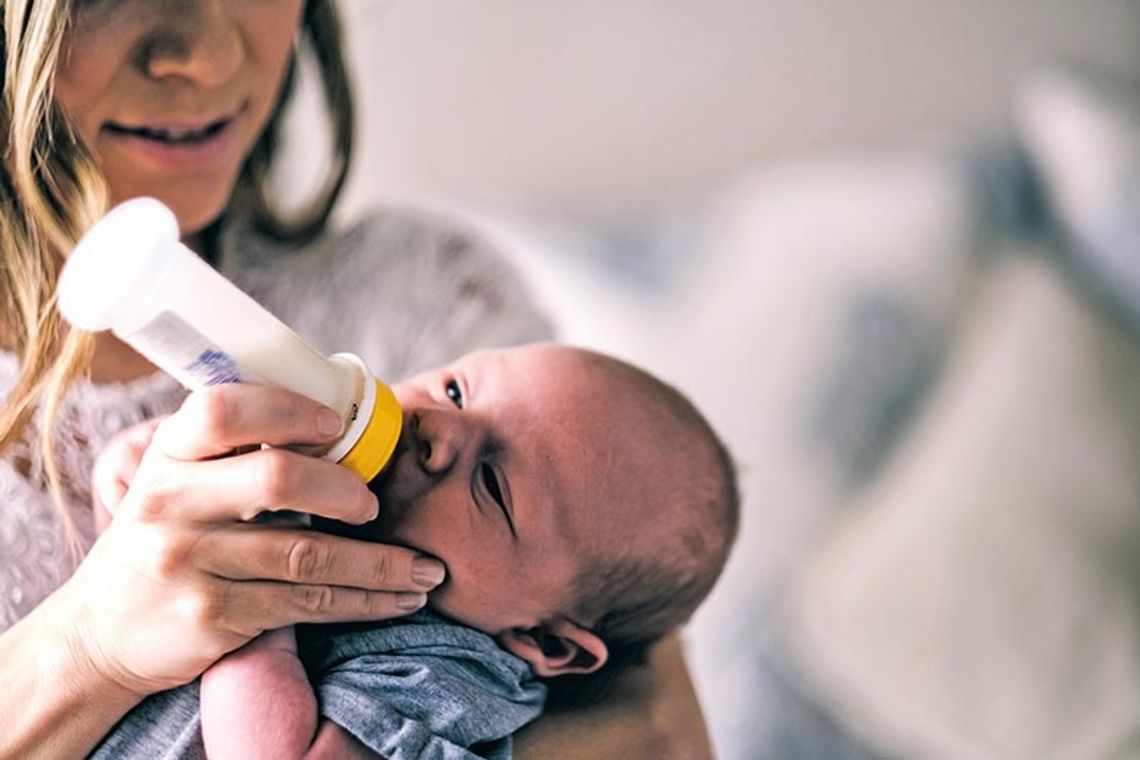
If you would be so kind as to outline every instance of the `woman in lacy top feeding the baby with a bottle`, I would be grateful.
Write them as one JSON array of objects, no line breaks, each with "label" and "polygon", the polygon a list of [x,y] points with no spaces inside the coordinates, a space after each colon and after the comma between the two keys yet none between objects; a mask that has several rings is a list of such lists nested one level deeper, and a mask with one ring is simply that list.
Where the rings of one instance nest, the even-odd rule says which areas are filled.
[{"label": "woman in lacy top feeding the baby with a bottle", "polygon": [[[146,508],[91,545],[91,457],[182,399],[125,345],[71,333],[54,311],[65,252],[108,203],[163,199],[207,260],[317,348],[355,350],[382,376],[546,328],[502,264],[438,222],[376,219],[312,244],[351,153],[328,0],[0,8],[0,757],[80,757],[142,696],[193,679],[261,630],[404,614],[423,604],[440,570],[400,547],[241,522],[251,504],[345,521],[377,509],[335,465],[298,456],[267,469],[256,451],[225,456],[335,435],[317,404],[264,387],[220,389],[163,423],[150,463],[162,476],[148,479]],[[311,204],[286,220],[267,187],[299,35],[317,54],[335,160]],[[311,245],[286,252],[302,243]],[[377,302],[396,305],[383,325],[350,319]],[[68,533],[90,546],[78,569]],[[619,677],[613,708],[571,706],[530,733],[522,752],[553,754],[567,737],[595,755],[706,752],[679,652],[659,656],[653,669]],[[679,743],[668,743],[669,732]]]}]

